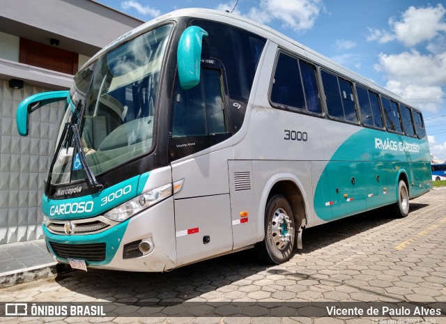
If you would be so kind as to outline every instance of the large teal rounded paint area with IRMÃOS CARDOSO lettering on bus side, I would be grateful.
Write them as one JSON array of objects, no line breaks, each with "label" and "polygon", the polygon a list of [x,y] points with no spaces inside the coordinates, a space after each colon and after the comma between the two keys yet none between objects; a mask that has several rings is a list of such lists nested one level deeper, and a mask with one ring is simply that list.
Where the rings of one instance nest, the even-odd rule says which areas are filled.
[{"label": "large teal rounded paint area with IRM\u00c3OS CARDOSO lettering on bus side", "polygon": [[317,217],[330,221],[397,201],[401,173],[408,178],[410,196],[430,190],[428,141],[358,130],[325,165],[314,192]]}]

